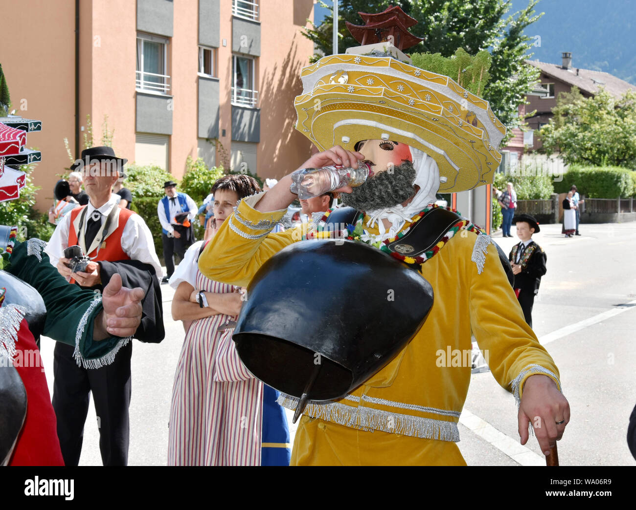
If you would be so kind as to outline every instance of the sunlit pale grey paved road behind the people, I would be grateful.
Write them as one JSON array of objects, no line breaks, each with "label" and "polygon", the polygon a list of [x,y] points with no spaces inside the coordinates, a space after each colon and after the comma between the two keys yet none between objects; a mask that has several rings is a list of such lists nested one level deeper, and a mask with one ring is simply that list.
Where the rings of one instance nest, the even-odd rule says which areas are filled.
[{"label": "sunlit pale grey paved road behind the people", "polygon": [[[560,228],[541,225],[534,237],[548,254],[548,274],[533,312],[534,330],[560,369],[572,410],[559,443],[560,461],[633,466],[625,436],[636,404],[636,222],[581,225],[583,236],[571,239],[563,238]],[[495,241],[508,252],[518,239],[495,236]],[[170,317],[172,289],[162,285],[162,290],[165,340],[134,344],[130,465],[162,466],[167,458],[172,379],[184,332]],[[43,339],[42,351],[50,375],[53,341]],[[92,404],[88,416],[80,463],[100,465]],[[489,372],[473,375],[459,427],[460,450],[469,465],[542,462],[535,438],[528,448],[518,445],[515,401]]]}]

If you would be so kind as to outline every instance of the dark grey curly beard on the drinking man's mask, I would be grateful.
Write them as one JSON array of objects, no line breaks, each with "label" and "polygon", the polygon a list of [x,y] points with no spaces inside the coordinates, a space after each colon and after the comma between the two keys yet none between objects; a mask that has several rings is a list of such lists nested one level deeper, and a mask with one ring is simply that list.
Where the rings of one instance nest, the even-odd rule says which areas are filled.
[{"label": "dark grey curly beard on the drinking man's mask", "polygon": [[364,184],[354,187],[352,193],[341,193],[340,201],[360,211],[396,206],[415,194],[415,175],[413,163],[404,161],[391,173],[387,170],[367,179]]}]

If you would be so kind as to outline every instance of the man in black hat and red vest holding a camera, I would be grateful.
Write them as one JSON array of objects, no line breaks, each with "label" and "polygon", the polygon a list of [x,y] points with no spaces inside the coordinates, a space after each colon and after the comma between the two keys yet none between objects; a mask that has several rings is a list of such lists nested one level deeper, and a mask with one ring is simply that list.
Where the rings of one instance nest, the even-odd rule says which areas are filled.
[{"label": "man in black hat and red vest holding a camera", "polygon": [[[153,236],[146,222],[134,211],[117,206],[111,193],[123,173],[127,159],[118,158],[111,147],[90,147],[72,167],[82,173],[85,206],[72,210],[57,225],[46,246],[50,262],[69,283],[88,288],[99,297],[113,274],[124,285],[141,287],[141,325],[133,335],[142,342],[160,342],[165,335],[159,278],[162,269],[155,252]],[[85,269],[73,266],[65,253],[79,246],[90,260]],[[60,344],[53,352],[53,408],[57,435],[67,466],[77,466],[83,441],[90,394],[93,395],[99,426],[99,448],[104,466],[125,466],[128,462],[132,342],[122,339],[108,358],[78,366],[74,347]],[[116,354],[116,356],[115,356]]]}]

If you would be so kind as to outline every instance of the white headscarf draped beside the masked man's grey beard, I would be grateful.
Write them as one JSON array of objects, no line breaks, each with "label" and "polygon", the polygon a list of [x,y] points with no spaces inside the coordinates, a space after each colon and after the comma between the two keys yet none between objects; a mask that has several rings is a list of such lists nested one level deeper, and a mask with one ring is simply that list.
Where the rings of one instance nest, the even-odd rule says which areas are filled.
[{"label": "white headscarf draped beside the masked man's grey beard", "polygon": [[[415,168],[413,185],[417,184],[420,187],[413,200],[406,207],[398,204],[385,209],[366,211],[370,216],[370,220],[366,225],[373,227],[377,222],[382,240],[396,236],[405,222],[427,205],[436,201],[435,194],[439,189],[439,168],[437,163],[425,152],[414,147],[409,147],[409,149],[411,149],[413,168]],[[384,227],[383,219],[391,222],[391,228],[388,231]]]}]

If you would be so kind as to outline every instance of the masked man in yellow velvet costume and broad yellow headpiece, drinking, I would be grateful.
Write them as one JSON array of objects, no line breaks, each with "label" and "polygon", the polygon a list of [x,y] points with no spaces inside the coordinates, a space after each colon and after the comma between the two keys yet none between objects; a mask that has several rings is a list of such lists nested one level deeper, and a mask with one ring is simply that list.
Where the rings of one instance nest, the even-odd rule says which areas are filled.
[{"label": "masked man in yellow velvet costume and broad yellow headpiece, drinking", "polygon": [[[300,168],[370,166],[363,185],[335,190],[363,211],[350,225],[361,234],[348,237],[416,267],[431,284],[434,303],[384,368],[344,398],[307,405],[292,464],[465,464],[455,442],[471,363],[447,359],[446,352],[469,351],[471,333],[497,382],[515,395],[522,444],[531,424],[548,454],[569,421],[569,405],[553,359],[523,320],[496,246],[455,213],[446,224],[427,219],[436,192],[492,183],[505,128],[487,102],[449,77],[406,63],[398,48],[380,43],[356,51],[301,71],[296,129],[321,152]],[[268,258],[300,240],[296,229],[270,234],[296,198],[292,184],[290,174],[240,202],[199,259],[205,276],[247,286]],[[422,250],[404,240],[418,222],[424,223],[417,231],[434,239]],[[367,299],[370,306],[381,302]],[[295,408],[298,399],[280,402]]]}]

